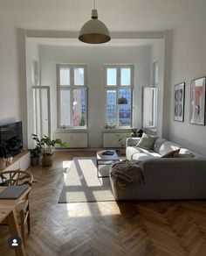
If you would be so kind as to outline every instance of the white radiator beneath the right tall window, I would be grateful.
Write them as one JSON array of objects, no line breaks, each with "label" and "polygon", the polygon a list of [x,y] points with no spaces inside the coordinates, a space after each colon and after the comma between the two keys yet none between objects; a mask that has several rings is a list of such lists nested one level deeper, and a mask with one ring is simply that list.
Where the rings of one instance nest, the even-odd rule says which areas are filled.
[{"label": "white radiator beneath the right tall window", "polygon": [[120,147],[120,141],[118,141],[119,138],[114,134],[120,135],[120,138],[124,141],[126,141],[128,136],[128,133],[103,133],[103,147]]}]

